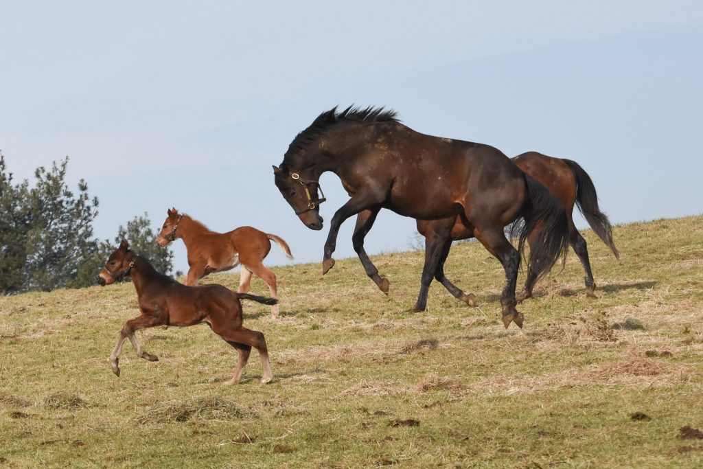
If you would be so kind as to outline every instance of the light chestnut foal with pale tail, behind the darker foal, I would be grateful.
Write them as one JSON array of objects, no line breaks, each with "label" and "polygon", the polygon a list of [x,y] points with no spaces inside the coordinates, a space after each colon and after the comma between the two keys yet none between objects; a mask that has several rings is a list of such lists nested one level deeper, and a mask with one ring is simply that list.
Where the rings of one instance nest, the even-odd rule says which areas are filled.
[{"label": "light chestnut foal with pale tail, behind the darker foal", "polygon": [[[188,250],[188,270],[186,285],[195,285],[200,278],[213,272],[234,269],[242,264],[239,277],[238,293],[247,293],[252,273],[262,278],[267,285],[271,297],[276,298],[276,275],[263,264],[264,257],[271,251],[271,241],[278,244],[288,259],[292,259],[290,248],[282,238],[271,233],[264,233],[251,226],[241,226],[227,233],[210,231],[207,227],[187,214],[179,214],[175,208],[168,210],[161,232],[156,237],[156,243],[162,248],[181,238]],[[278,317],[278,304],[271,307],[271,316]]]}]

